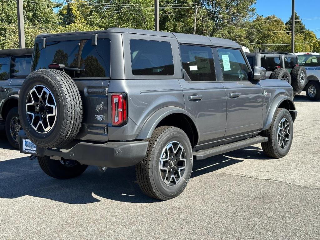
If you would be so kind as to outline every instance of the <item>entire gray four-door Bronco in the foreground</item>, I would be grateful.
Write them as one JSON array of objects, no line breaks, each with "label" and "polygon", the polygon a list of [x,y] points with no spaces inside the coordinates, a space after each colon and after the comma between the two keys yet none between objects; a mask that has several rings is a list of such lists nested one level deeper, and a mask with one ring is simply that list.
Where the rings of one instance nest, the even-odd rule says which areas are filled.
[{"label": "entire gray four-door Bronco in the foreground", "polygon": [[167,200],[186,187],[193,160],[257,143],[273,158],[288,153],[292,87],[265,73],[226,39],[125,28],[39,35],[19,97],[20,151],[58,179],[135,165],[142,191]]}]

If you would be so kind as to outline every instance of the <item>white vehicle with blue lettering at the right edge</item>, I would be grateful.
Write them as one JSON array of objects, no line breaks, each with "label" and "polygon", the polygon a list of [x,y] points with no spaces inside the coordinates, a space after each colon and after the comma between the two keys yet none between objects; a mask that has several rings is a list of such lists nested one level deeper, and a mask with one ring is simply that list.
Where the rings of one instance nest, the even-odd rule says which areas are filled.
[{"label": "white vehicle with blue lettering at the right edge", "polygon": [[304,88],[309,100],[320,100],[320,53],[295,52],[299,65],[307,71],[307,84]]}]

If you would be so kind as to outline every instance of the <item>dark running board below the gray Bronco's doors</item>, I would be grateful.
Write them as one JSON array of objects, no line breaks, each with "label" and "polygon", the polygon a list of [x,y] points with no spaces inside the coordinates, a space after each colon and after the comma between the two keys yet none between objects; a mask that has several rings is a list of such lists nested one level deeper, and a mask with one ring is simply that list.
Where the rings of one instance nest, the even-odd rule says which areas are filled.
[{"label": "dark running board below the gray Bronco's doors", "polygon": [[193,152],[193,156],[194,156],[194,159],[197,159],[197,160],[206,159],[208,157],[220,155],[220,154],[231,152],[231,151],[238,150],[241,148],[246,148],[246,147],[252,146],[254,144],[261,143],[261,142],[268,142],[268,138],[261,137],[261,136],[257,136],[254,138],[248,138],[248,139],[241,140],[238,142],[233,142],[233,143],[221,145],[221,146],[214,147],[214,148],[196,151],[196,152]]}]

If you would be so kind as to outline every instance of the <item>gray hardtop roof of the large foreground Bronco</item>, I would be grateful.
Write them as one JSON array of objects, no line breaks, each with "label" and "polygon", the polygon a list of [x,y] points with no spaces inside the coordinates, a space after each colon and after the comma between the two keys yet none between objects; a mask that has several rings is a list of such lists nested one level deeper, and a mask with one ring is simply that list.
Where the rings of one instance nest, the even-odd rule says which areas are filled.
[{"label": "gray hardtop roof of the large foreground Bronco", "polygon": [[171,32],[133,29],[133,28],[109,28],[107,30],[102,30],[102,31],[40,34],[36,38],[44,38],[44,37],[51,37],[51,36],[67,36],[67,35],[75,35],[75,34],[76,35],[99,34],[99,33],[131,33],[131,34],[149,35],[149,36],[172,37],[172,38],[176,38],[178,43],[212,45],[212,46],[220,46],[220,47],[232,47],[232,48],[238,48],[238,49],[241,48],[239,44],[229,39],[193,35],[193,34],[184,34],[184,33],[171,33]]}]

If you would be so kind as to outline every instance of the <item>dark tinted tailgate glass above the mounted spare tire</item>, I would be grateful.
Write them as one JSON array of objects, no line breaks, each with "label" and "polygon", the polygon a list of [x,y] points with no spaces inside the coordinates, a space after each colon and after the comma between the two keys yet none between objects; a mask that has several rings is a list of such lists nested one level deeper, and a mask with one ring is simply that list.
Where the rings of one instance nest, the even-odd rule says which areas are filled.
[{"label": "dark tinted tailgate glass above the mounted spare tire", "polygon": [[46,47],[36,44],[32,71],[48,68],[49,64],[59,63],[65,67],[80,68],[80,73],[66,72],[72,77],[110,77],[110,40],[74,40],[47,42]]}]

